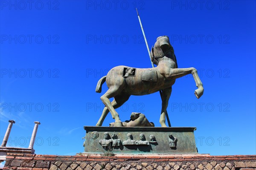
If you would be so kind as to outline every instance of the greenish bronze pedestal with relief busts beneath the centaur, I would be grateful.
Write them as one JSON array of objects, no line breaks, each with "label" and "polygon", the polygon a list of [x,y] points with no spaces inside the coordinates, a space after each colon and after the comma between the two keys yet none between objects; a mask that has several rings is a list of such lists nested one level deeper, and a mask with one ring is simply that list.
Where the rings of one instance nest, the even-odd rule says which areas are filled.
[{"label": "greenish bronze pedestal with relief busts beneath the centaur", "polygon": [[[85,153],[197,154],[195,127],[84,126]],[[106,135],[107,133],[109,135]],[[128,134],[130,133],[130,134]],[[141,133],[144,139],[140,139]],[[115,136],[115,135],[116,136]],[[154,137],[153,137],[154,136]],[[118,139],[117,139],[117,138]],[[131,139],[128,139],[131,138]],[[143,137],[142,137],[143,138]],[[100,143],[101,144],[100,144]]]}]

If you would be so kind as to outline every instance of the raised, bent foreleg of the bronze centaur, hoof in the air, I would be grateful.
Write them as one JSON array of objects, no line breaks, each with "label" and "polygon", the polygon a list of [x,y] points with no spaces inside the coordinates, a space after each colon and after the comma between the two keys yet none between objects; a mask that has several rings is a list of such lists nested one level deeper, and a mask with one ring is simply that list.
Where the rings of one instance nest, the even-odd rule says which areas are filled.
[{"label": "raised, bent foreleg of the bronze centaur, hoof in the air", "polygon": [[204,94],[204,88],[195,68],[173,68],[169,76],[177,79],[187,74],[192,74],[195,79],[196,87],[198,87],[198,89],[195,90],[195,96],[199,99]]}]

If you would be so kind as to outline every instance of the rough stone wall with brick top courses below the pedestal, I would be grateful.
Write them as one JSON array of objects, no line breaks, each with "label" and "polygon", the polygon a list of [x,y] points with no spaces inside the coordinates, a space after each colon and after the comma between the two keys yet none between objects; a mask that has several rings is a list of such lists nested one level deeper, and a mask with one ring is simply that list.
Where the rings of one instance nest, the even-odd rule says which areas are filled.
[{"label": "rough stone wall with brick top courses below the pedestal", "polygon": [[256,170],[255,155],[56,156],[13,154],[4,170]]}]

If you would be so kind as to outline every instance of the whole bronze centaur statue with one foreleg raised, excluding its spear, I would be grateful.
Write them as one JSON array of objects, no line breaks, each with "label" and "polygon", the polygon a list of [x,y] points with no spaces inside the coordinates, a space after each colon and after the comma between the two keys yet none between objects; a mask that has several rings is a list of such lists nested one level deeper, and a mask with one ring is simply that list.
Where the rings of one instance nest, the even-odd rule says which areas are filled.
[{"label": "whole bronze centaur statue with one foreleg raised, excluding its spear", "polygon": [[[100,93],[102,84],[106,81],[108,91],[101,96],[105,108],[96,126],[101,126],[108,112],[111,112],[115,119],[115,126],[123,126],[115,111],[124,104],[131,95],[140,96],[162,91],[162,111],[160,124],[166,127],[165,116],[169,97],[172,93],[172,85],[175,79],[192,74],[196,86],[195,96],[199,99],[204,93],[201,80],[195,68],[177,68],[177,60],[169,37],[161,36],[157,38],[154,48],[151,50],[151,60],[157,65],[155,68],[131,68],[127,66],[116,66],[108,74],[102,77],[96,87],[96,92]],[[110,102],[110,98],[114,98]]]}]

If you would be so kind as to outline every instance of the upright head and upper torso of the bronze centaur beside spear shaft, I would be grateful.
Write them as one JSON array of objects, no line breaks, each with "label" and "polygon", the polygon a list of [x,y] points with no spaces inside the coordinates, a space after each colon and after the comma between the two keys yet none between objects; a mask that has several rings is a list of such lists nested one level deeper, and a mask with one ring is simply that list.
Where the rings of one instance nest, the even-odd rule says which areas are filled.
[{"label": "upright head and upper torso of the bronze centaur beside spear shaft", "polygon": [[164,56],[169,57],[169,52],[171,52],[171,55],[174,55],[174,50],[170,43],[169,37],[166,35],[157,37],[157,42],[155,42],[154,48],[152,47],[151,49],[151,61],[155,65],[158,65],[158,62],[161,58],[163,58]]}]

